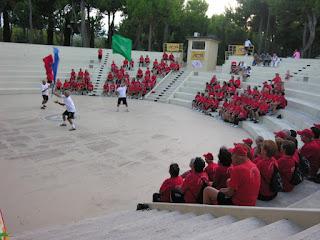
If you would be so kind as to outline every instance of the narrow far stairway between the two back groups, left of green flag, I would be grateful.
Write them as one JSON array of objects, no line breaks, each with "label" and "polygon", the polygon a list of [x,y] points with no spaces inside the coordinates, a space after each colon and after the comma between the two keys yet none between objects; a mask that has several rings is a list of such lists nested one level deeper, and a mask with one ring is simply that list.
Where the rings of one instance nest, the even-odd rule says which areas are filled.
[{"label": "narrow far stairway between the two back groups, left of green flag", "polygon": [[109,52],[106,51],[100,68],[97,68],[97,71],[93,74],[92,84],[93,91],[89,93],[89,96],[100,96],[102,94],[103,84],[107,76],[107,63],[109,59]]}]

